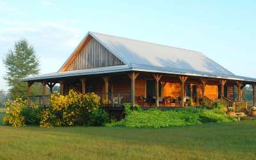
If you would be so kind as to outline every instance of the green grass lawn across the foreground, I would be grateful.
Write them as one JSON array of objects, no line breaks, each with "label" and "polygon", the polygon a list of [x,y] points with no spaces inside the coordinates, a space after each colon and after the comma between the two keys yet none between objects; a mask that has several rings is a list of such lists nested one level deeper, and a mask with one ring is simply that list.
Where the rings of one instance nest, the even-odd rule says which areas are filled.
[{"label": "green grass lawn across the foreground", "polygon": [[256,121],[180,128],[0,126],[0,159],[255,159]]}]

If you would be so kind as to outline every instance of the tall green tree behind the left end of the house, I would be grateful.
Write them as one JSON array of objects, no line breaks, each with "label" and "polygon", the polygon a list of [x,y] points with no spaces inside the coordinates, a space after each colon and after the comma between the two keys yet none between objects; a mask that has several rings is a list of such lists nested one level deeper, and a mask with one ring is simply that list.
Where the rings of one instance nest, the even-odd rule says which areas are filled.
[{"label": "tall green tree behind the left end of the house", "polygon": [[3,63],[7,70],[4,79],[9,86],[10,98],[26,97],[27,84],[19,79],[36,75],[40,71],[35,49],[26,39],[19,40],[3,59]]}]

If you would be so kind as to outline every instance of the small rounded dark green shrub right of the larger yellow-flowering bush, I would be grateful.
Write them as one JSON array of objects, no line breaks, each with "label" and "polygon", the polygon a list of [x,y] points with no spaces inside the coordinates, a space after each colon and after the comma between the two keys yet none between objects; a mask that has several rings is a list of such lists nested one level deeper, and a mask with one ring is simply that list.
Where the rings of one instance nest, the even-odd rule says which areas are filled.
[{"label": "small rounded dark green shrub right of the larger yellow-flowering bush", "polygon": [[108,123],[108,114],[102,109],[96,109],[92,111],[89,124],[92,126],[104,126]]}]

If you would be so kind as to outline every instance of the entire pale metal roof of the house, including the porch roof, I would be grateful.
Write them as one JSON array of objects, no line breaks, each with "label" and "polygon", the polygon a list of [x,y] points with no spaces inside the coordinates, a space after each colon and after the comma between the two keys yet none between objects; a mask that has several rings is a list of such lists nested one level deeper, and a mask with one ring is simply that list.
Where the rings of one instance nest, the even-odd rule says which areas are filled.
[{"label": "entire pale metal roof of the house, including the porch roof", "polygon": [[[256,82],[255,78],[236,76],[235,74],[232,74],[232,72],[228,71],[224,67],[221,67],[221,65],[214,62],[210,58],[207,58],[207,56],[201,52],[92,32],[88,32],[78,46],[83,44],[87,36],[92,36],[95,38],[95,40],[97,40],[100,44],[106,47],[106,49],[115,54],[117,58],[123,61],[125,65],[88,68],[84,70],[67,72],[60,72],[60,69],[58,72],[52,74],[25,77],[20,80],[36,81],[40,79],[137,70],[144,72],[161,72],[166,74],[216,77]],[[75,54],[77,48],[72,54]],[[71,57],[72,55],[70,58]],[[67,61],[65,63],[67,63]]]}]

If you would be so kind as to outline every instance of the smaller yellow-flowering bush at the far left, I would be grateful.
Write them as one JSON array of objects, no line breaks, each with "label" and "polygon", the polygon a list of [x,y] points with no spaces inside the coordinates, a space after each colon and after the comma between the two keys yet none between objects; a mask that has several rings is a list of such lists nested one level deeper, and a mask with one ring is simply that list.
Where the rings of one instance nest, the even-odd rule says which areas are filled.
[{"label": "smaller yellow-flowering bush at the far left", "polygon": [[3,117],[3,123],[12,125],[13,127],[21,127],[25,125],[25,118],[20,114],[22,108],[26,107],[26,100],[17,98],[12,102],[4,103],[6,107],[6,114]]}]

